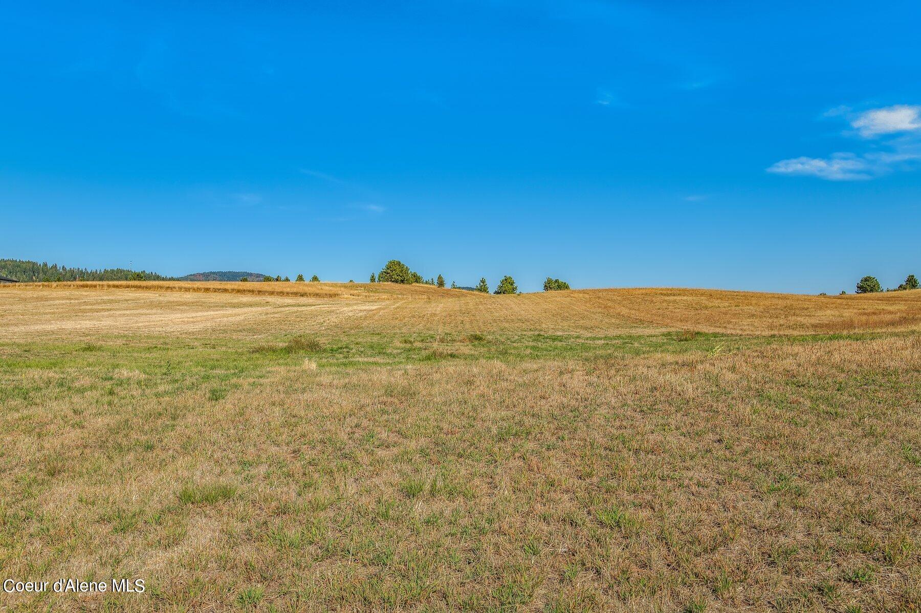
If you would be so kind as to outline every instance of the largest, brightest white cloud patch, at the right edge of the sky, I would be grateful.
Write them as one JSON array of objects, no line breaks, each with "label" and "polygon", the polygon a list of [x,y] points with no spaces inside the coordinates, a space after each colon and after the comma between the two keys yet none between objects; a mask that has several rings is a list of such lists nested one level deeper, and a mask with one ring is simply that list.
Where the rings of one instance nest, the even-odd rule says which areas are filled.
[{"label": "largest, brightest white cloud patch, at the right edge of the sky", "polygon": [[[893,136],[866,153],[842,151],[827,158],[781,159],[766,170],[775,174],[812,176],[826,181],[867,181],[897,170],[911,170],[921,160],[921,106],[897,104],[855,112],[846,106],[825,112],[825,117],[844,117],[863,141]],[[885,147],[880,150],[879,147]]]}]

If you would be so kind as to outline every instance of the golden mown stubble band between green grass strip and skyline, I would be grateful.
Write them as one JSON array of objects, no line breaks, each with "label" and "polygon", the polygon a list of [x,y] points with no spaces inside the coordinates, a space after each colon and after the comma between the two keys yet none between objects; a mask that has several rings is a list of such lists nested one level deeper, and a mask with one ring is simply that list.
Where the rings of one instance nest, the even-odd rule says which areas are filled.
[{"label": "golden mown stubble band between green grass strip and skyline", "polygon": [[[234,294],[229,298],[224,294]],[[100,332],[694,330],[742,335],[921,329],[921,290],[802,296],[715,289],[586,289],[518,296],[391,283],[108,282],[0,286],[6,336]],[[34,304],[41,304],[36,311]]]}]

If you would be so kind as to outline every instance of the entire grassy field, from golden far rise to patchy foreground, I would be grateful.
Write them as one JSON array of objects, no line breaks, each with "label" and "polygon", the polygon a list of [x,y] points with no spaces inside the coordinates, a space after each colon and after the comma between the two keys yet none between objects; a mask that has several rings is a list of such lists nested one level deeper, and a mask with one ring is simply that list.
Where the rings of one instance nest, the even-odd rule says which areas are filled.
[{"label": "entire grassy field, from golden far rise to patchy foreground", "polygon": [[0,286],[50,611],[917,611],[921,291]]}]

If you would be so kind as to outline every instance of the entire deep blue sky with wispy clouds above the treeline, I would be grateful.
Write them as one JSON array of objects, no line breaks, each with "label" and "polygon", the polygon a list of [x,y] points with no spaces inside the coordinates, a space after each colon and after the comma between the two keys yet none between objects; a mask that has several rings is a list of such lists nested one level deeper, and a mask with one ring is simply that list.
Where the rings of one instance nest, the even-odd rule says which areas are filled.
[{"label": "entire deep blue sky with wispy clouds above the treeline", "polygon": [[0,257],[524,290],[921,274],[916,2],[14,3]]}]

